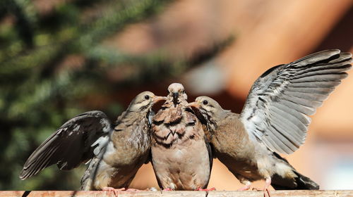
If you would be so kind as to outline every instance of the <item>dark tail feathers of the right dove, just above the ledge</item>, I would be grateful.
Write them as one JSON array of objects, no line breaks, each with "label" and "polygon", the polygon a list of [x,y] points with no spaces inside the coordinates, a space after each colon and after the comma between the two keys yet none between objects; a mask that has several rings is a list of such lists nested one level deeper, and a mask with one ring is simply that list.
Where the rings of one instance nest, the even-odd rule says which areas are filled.
[{"label": "dark tail feathers of the right dove, just above the ledge", "polygon": [[309,177],[305,177],[303,174],[300,174],[296,170],[293,170],[294,174],[297,174],[297,177],[295,177],[295,186],[291,185],[289,186],[288,184],[285,184],[287,180],[283,179],[280,176],[274,176],[272,179],[271,186],[275,190],[316,190],[319,189],[319,185],[316,184],[316,182],[313,182]]}]

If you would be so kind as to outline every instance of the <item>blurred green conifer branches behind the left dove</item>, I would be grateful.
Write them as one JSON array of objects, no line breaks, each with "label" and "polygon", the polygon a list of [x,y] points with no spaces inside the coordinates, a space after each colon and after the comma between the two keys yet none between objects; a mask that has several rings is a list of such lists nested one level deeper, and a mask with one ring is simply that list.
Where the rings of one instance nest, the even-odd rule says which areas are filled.
[{"label": "blurred green conifer branches behind the left dove", "polygon": [[[25,181],[18,175],[30,153],[60,125],[93,110],[86,105],[92,95],[102,98],[116,87],[177,75],[231,41],[188,60],[171,61],[161,51],[133,56],[102,42],[159,13],[169,1],[59,1],[47,12],[40,11],[38,2],[0,2],[0,190],[79,189],[85,166],[71,172],[52,166]],[[107,77],[112,68],[119,69],[118,81]],[[123,109],[109,102],[95,110],[113,120]]]}]

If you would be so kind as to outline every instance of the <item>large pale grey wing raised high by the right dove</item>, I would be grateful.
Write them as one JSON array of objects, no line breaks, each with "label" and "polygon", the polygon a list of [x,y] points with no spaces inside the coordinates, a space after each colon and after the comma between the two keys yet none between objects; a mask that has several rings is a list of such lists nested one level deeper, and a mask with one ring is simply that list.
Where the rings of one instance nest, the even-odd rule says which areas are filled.
[{"label": "large pale grey wing raised high by the right dove", "polygon": [[351,53],[327,50],[270,68],[251,87],[240,119],[253,140],[293,153],[306,139],[313,115],[347,77]]}]

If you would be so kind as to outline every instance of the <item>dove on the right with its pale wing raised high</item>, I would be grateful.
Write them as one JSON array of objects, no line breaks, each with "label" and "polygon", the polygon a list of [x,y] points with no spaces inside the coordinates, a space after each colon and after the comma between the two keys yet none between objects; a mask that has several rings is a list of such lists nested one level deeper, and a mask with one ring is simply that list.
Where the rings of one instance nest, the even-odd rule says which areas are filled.
[{"label": "dove on the right with its pale wing raised high", "polygon": [[[191,107],[203,123],[218,158],[242,184],[265,179],[274,189],[319,189],[282,154],[304,144],[309,115],[347,77],[352,54],[332,49],[277,65],[258,77],[240,114],[224,110],[217,101],[199,96]],[[269,193],[268,193],[269,194]]]}]

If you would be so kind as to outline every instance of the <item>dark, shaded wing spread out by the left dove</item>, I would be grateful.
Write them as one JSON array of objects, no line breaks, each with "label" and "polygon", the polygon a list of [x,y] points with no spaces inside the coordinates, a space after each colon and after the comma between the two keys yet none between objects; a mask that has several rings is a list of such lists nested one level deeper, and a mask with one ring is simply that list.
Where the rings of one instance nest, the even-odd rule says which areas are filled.
[{"label": "dark, shaded wing spread out by the left dove", "polygon": [[[49,165],[71,170],[93,157],[112,124],[101,111],[89,111],[73,117],[49,136],[25,162],[20,179],[31,177]],[[100,139],[100,137],[102,137]]]}]

